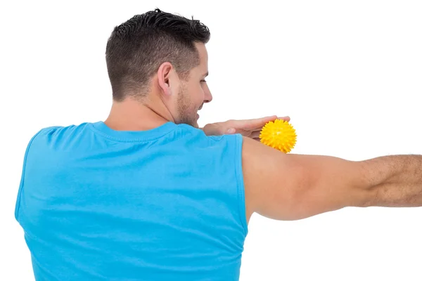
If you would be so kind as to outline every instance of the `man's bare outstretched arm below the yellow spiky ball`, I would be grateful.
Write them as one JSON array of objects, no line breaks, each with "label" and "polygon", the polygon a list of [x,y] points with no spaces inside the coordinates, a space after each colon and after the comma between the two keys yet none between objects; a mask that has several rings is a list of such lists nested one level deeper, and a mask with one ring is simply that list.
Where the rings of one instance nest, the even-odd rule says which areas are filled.
[{"label": "man's bare outstretched arm below the yellow spiky ball", "polygon": [[365,161],[284,154],[243,138],[248,216],[307,218],[343,207],[422,206],[422,157]]}]

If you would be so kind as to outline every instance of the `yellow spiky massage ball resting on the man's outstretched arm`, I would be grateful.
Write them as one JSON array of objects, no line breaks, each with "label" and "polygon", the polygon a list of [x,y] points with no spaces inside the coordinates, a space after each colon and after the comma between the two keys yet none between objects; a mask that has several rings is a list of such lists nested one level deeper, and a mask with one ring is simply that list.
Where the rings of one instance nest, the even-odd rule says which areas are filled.
[{"label": "yellow spiky massage ball resting on the man's outstretched arm", "polygon": [[262,127],[261,143],[284,153],[290,152],[296,144],[296,131],[289,122],[276,119]]}]

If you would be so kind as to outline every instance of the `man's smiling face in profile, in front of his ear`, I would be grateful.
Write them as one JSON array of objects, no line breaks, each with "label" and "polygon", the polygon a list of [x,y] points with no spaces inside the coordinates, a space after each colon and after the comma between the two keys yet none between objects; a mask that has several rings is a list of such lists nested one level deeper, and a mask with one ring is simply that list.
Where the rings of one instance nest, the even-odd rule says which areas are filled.
[{"label": "man's smiling face in profile, in front of his ear", "polygon": [[204,103],[212,100],[205,77],[208,74],[208,54],[205,44],[196,44],[200,63],[189,72],[187,81],[181,81],[177,96],[179,124],[188,124],[198,128],[198,110]]}]

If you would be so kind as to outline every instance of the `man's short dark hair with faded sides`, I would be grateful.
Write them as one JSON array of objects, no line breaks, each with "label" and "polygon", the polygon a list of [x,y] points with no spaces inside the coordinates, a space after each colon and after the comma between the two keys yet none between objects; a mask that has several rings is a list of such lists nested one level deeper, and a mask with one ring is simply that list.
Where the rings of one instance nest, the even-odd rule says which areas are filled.
[{"label": "man's short dark hair with faded sides", "polygon": [[134,15],[114,28],[106,47],[108,77],[113,99],[142,98],[151,77],[170,62],[182,79],[199,64],[195,43],[206,44],[210,30],[199,20],[160,9]]}]

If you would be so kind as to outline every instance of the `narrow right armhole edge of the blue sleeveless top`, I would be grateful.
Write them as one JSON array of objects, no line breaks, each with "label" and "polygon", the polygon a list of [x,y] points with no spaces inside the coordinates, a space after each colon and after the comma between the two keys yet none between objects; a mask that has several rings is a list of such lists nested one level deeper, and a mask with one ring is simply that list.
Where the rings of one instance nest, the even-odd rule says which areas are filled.
[{"label": "narrow right armhole edge of the blue sleeveless top", "polygon": [[243,136],[236,134],[235,138],[235,170],[238,191],[238,207],[241,223],[245,236],[248,235],[248,223],[246,221],[246,204],[245,204],[245,184],[243,182],[243,168],[242,168],[242,145]]}]

